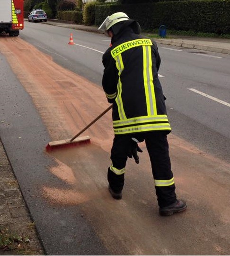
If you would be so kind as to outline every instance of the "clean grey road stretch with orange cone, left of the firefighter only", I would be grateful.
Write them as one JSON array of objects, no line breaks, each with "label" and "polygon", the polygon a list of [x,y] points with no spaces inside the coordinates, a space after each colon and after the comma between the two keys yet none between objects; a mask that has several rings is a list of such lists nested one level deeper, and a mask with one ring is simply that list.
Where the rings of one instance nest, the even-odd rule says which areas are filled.
[{"label": "clean grey road stretch with orange cone, left of the firefighter only", "polygon": [[[69,70],[86,77],[97,84],[101,83],[103,67],[102,53],[109,45],[108,37],[84,31],[73,31],[68,28],[55,27],[44,23],[25,22],[26,26],[20,37],[36,46],[53,60]],[[73,33],[74,45],[68,45],[70,33]],[[85,47],[95,50],[90,50]]]}]

